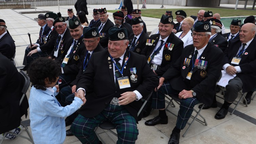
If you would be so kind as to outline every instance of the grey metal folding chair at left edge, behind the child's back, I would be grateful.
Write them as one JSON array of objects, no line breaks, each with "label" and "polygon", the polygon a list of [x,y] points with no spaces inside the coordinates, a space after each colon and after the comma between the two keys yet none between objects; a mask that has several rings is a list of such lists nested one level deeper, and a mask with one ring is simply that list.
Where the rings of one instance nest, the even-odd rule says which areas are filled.
[{"label": "grey metal folding chair at left edge, behind the child's back", "polygon": [[[22,101],[23,101],[23,99],[24,99],[24,97],[25,97],[25,95],[26,95],[27,89],[28,89],[28,87],[29,87],[29,85],[30,85],[30,81],[29,81],[29,77],[24,73],[24,71],[21,70],[21,71],[20,71],[20,74],[25,78],[25,83],[24,83],[24,86],[23,86],[23,89],[22,89],[23,95],[22,95],[22,97],[21,97],[21,99],[20,99],[20,105],[21,105],[21,103],[22,103]],[[32,136],[31,136],[31,134],[29,133],[27,126],[26,126],[25,124],[23,124],[22,121],[20,122],[20,125],[25,128],[25,131],[27,132],[29,138],[24,137],[24,136],[21,136],[21,135],[17,135],[16,133],[13,133],[13,132],[7,131],[7,132],[3,133],[3,138],[2,138],[2,140],[1,140],[1,142],[0,142],[0,144],[3,143],[4,138],[5,138],[5,136],[6,136],[7,134],[11,134],[11,135],[14,135],[14,136],[17,136],[17,137],[21,137],[21,138],[27,139],[28,141],[30,141],[31,143],[34,144],[33,138],[32,138]]]}]

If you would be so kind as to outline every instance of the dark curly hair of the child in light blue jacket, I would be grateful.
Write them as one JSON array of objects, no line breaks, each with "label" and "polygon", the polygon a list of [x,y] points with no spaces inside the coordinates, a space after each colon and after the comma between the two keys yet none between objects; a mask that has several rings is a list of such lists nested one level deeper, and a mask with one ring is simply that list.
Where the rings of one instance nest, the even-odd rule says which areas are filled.
[{"label": "dark curly hair of the child in light blue jacket", "polygon": [[28,77],[36,89],[46,90],[44,80],[49,78],[50,82],[55,82],[61,74],[60,65],[53,59],[46,57],[38,58],[29,65]]}]

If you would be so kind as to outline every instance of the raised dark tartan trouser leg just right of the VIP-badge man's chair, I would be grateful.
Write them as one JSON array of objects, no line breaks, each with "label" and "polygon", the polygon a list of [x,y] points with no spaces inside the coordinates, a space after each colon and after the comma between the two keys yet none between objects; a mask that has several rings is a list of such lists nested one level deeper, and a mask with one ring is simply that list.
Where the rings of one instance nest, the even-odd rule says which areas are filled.
[{"label": "raised dark tartan trouser leg just right of the VIP-badge man's chair", "polygon": [[179,91],[173,89],[169,82],[164,81],[163,85],[152,93],[152,108],[162,109],[165,108],[165,96],[166,95],[178,95]]}]

